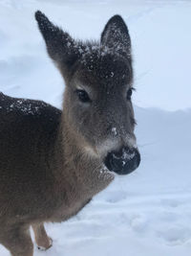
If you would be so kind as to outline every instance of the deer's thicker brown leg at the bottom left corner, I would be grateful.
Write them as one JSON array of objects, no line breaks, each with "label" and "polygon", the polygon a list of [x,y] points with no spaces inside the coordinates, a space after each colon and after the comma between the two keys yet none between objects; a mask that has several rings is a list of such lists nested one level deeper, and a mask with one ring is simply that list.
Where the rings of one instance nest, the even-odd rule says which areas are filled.
[{"label": "deer's thicker brown leg at the bottom left corner", "polygon": [[0,243],[10,250],[12,256],[33,256],[29,227],[16,225],[0,228]]}]

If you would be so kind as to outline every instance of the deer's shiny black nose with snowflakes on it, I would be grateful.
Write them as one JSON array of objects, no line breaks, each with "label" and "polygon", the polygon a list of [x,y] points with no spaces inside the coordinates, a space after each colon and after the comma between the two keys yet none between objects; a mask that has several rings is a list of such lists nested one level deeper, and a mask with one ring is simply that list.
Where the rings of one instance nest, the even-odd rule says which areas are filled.
[{"label": "deer's shiny black nose with snowflakes on it", "polygon": [[104,163],[111,172],[128,175],[138,168],[140,154],[137,149],[122,148],[109,152]]}]

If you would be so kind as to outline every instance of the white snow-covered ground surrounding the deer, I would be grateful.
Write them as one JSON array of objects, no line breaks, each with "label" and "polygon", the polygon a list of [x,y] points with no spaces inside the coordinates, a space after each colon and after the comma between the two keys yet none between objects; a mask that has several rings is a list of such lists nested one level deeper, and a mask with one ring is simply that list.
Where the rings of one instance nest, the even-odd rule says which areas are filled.
[{"label": "white snow-covered ground surrounding the deer", "polygon": [[[0,0],[0,91],[60,107],[63,81],[33,12],[79,38],[119,13],[132,36],[142,162],[76,217],[47,224],[53,247],[34,256],[191,255],[191,2]],[[9,252],[0,246],[0,255]]]}]

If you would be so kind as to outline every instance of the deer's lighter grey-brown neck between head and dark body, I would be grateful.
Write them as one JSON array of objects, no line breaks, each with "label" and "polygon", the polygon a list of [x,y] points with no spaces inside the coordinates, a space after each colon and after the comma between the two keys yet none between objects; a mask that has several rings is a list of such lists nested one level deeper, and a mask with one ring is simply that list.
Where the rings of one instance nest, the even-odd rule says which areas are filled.
[{"label": "deer's lighter grey-brown neck between head and dark body", "polygon": [[114,179],[114,175],[103,168],[99,157],[88,153],[77,139],[76,131],[66,121],[64,113],[58,134],[58,145],[62,154],[61,175],[65,175],[70,186],[78,193],[92,198],[105,189]]}]

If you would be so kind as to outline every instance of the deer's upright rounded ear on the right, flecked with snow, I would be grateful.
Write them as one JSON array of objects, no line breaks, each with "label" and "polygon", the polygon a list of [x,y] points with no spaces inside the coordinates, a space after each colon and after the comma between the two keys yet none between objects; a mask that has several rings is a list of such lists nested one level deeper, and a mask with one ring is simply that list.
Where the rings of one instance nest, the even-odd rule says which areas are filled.
[{"label": "deer's upright rounded ear on the right, flecked with snow", "polygon": [[131,39],[121,16],[115,15],[108,21],[101,34],[101,44],[131,58]]}]

